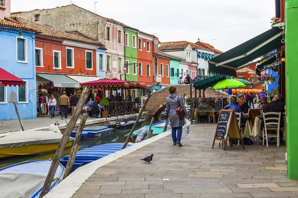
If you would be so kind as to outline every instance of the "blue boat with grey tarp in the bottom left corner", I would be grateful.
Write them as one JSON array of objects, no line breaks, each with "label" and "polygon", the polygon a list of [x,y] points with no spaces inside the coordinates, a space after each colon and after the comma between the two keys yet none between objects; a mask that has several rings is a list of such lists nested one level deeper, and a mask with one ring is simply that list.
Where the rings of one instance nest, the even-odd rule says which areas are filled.
[{"label": "blue boat with grey tarp in the bottom left corner", "polygon": [[[52,161],[35,160],[0,169],[1,198],[39,198]],[[62,180],[65,168],[59,163],[50,191]]]}]

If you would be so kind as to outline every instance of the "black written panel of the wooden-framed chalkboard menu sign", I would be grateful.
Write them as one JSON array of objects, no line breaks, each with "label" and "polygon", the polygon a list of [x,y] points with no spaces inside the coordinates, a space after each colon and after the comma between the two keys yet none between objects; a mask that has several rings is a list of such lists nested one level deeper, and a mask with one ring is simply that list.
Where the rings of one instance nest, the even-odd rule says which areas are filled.
[{"label": "black written panel of the wooden-framed chalkboard menu sign", "polygon": [[226,138],[227,130],[228,130],[229,124],[230,124],[230,117],[231,117],[230,111],[221,112],[219,121],[218,121],[215,138],[218,138],[218,139]]}]

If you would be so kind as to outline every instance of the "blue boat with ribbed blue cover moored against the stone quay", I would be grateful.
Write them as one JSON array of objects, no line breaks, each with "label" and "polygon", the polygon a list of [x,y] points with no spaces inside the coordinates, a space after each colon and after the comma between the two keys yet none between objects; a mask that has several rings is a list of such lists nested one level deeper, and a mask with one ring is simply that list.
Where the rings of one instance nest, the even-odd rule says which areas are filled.
[{"label": "blue boat with ribbed blue cover moored against the stone quay", "polygon": [[[71,172],[92,161],[95,161],[97,159],[100,159],[102,157],[105,157],[107,155],[110,155],[114,152],[121,150],[121,148],[123,147],[123,144],[124,143],[110,143],[110,144],[104,144],[104,145],[96,145],[91,148],[86,148],[86,149],[77,151]],[[130,144],[127,145],[127,147],[130,147],[130,146],[131,146]],[[60,163],[66,167],[69,157],[70,155],[65,155],[61,157]]]}]

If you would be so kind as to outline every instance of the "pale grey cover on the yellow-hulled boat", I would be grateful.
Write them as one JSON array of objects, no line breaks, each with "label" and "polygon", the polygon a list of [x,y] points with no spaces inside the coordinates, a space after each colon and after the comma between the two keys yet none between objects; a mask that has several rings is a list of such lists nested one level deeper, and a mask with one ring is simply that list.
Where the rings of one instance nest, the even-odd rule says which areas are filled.
[{"label": "pale grey cover on the yellow-hulled boat", "polygon": [[[59,143],[62,134],[53,131],[17,131],[0,137],[0,148]],[[70,138],[69,141],[74,141]]]}]

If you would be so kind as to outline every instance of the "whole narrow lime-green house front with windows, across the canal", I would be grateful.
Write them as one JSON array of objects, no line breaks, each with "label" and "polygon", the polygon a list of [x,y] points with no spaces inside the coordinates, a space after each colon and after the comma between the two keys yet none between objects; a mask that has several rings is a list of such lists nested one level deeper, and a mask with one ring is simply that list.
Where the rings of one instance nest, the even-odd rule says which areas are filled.
[{"label": "whole narrow lime-green house front with windows, across the canal", "polygon": [[[138,82],[138,49],[137,49],[137,38],[138,29],[125,26],[125,64],[124,74],[125,80]],[[147,47],[146,47],[147,48]]]}]

